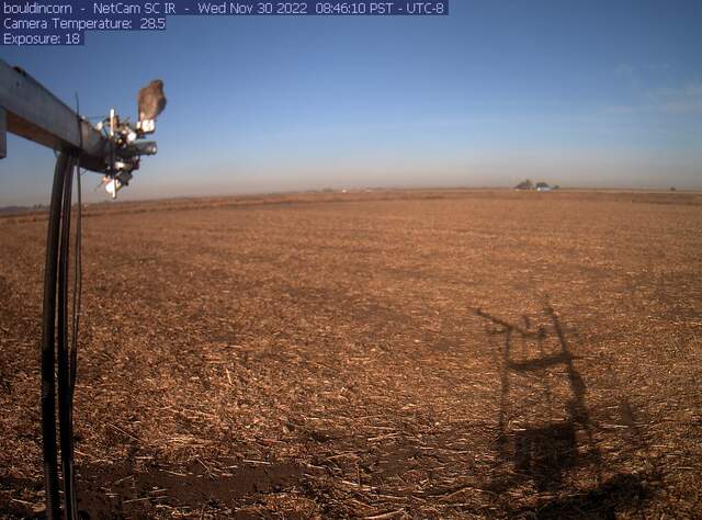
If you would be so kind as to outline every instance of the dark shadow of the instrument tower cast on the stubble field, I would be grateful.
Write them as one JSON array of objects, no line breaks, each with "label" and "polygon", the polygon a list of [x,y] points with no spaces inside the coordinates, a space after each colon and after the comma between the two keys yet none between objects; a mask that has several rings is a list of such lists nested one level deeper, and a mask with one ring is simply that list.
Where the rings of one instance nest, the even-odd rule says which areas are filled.
[{"label": "dark shadow of the instrument tower cast on the stubble field", "polygon": [[[641,506],[642,477],[611,474],[595,438],[587,385],[576,366],[558,314],[548,304],[537,327],[523,315],[509,323],[482,309],[487,332],[498,343],[500,396],[496,451],[508,470],[488,484],[497,493],[531,486],[553,497],[536,508],[503,506],[510,516],[613,518]],[[587,475],[586,485],[582,475]],[[589,481],[589,482],[587,482]],[[592,486],[595,483],[595,486]]]}]

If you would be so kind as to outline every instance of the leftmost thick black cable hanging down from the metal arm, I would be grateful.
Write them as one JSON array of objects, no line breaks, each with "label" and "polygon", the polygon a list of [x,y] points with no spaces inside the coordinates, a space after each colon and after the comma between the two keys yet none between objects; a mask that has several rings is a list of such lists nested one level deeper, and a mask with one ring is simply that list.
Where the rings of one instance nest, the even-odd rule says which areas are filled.
[{"label": "leftmost thick black cable hanging down from the metal arm", "polygon": [[46,518],[58,520],[60,505],[58,498],[58,466],[56,450],[56,381],[55,334],[56,334],[56,282],[59,253],[59,231],[61,227],[61,203],[66,172],[70,166],[68,155],[61,152],[56,160],[52,203],[46,233],[46,264],[44,268],[44,308],[42,316],[42,449],[44,455],[44,488],[46,490]]}]

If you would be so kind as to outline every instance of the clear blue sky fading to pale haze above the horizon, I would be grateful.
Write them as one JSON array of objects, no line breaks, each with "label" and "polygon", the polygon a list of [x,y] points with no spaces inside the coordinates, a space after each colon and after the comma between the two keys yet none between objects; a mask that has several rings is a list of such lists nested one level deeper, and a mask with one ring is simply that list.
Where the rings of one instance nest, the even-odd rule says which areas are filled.
[{"label": "clear blue sky fading to pale haze above the horizon", "polygon": [[[702,189],[701,1],[451,9],[179,16],[162,33],[89,33],[83,48],[0,55],[69,104],[78,92],[87,115],[133,114],[138,88],[163,79],[159,155],[144,160],[127,199],[525,177]],[[0,205],[46,202],[53,162],[50,150],[11,137]]]}]

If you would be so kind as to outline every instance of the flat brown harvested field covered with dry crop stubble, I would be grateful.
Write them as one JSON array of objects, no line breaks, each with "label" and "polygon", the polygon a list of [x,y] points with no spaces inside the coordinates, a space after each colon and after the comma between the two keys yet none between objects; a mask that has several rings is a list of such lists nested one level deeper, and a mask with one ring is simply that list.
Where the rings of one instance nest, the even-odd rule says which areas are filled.
[{"label": "flat brown harvested field covered with dry crop stubble", "polygon": [[[97,205],[90,518],[701,518],[702,195]],[[46,222],[0,219],[0,517],[43,511]]]}]

